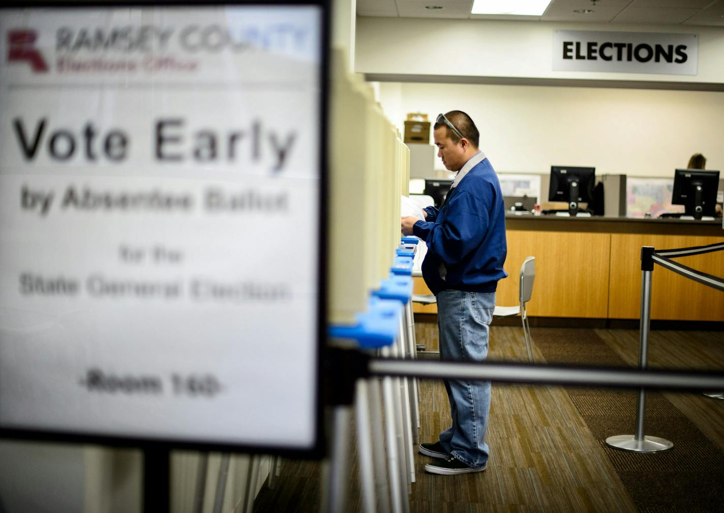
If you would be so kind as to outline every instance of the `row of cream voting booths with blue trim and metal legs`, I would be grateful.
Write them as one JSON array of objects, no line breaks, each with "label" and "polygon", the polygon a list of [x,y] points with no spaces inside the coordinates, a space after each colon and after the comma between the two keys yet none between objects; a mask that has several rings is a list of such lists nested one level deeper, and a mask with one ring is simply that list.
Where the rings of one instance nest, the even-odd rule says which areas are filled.
[{"label": "row of cream voting booths with blue trim and metal legs", "polygon": [[[412,358],[409,299],[418,241],[403,245],[400,238],[409,149],[384,117],[371,87],[361,75],[348,72],[342,49],[332,51],[331,69],[329,182],[335,222],[329,228],[329,345]],[[407,378],[364,378],[365,366],[355,364],[355,357],[331,355],[333,368],[325,378],[336,394],[323,509],[345,509],[354,405],[363,509],[404,511],[415,479],[417,384]]]}]

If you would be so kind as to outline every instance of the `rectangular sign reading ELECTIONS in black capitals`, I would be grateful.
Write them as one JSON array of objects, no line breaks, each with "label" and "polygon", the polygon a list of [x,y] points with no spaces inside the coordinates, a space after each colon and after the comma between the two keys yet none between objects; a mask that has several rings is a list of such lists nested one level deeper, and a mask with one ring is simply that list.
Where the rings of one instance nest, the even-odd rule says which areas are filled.
[{"label": "rectangular sign reading ELECTIONS in black capitals", "polygon": [[553,70],[696,75],[696,34],[556,30]]}]

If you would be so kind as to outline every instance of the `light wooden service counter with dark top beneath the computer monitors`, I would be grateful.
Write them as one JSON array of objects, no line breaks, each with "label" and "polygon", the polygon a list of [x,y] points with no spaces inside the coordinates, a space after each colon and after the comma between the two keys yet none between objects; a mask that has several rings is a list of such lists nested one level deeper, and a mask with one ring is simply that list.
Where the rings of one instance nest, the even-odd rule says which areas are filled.
[{"label": "light wooden service counter with dark top beneath the computer monitors", "polygon": [[[721,220],[626,219],[507,214],[509,277],[497,288],[497,304],[518,304],[518,275],[536,257],[528,304],[534,317],[639,319],[641,246],[675,249],[724,241]],[[724,251],[676,259],[695,270],[724,276]],[[415,293],[429,293],[416,278]],[[436,313],[434,304],[415,312]],[[724,293],[654,265],[653,320],[724,320]]]}]

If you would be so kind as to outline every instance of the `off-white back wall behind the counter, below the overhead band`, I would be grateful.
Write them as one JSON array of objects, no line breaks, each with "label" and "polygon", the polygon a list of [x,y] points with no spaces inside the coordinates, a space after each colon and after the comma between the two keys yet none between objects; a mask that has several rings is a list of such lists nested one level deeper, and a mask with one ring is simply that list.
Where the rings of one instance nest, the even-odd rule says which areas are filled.
[{"label": "off-white back wall behind the counter, below the overhead band", "polygon": [[694,153],[724,172],[724,93],[421,83],[379,91],[400,129],[407,112],[468,112],[497,172],[547,174],[564,164],[670,177]]}]

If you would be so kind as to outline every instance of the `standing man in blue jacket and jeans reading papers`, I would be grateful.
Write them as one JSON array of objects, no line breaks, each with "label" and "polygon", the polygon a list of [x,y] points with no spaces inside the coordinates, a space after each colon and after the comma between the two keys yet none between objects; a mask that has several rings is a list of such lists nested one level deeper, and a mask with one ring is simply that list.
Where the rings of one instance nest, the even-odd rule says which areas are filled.
[{"label": "standing man in blue jacket and jeans reading papers", "polygon": [[[427,243],[422,263],[425,283],[437,297],[440,359],[482,362],[503,270],[505,207],[500,182],[478,149],[480,133],[465,112],[439,114],[434,125],[437,156],[447,170],[458,172],[445,203],[427,207],[426,220],[402,218],[404,235]],[[439,441],[421,443],[419,451],[437,461],[427,472],[455,475],[485,470],[489,449],[485,430],[490,409],[490,382],[445,380],[452,426]]]}]

